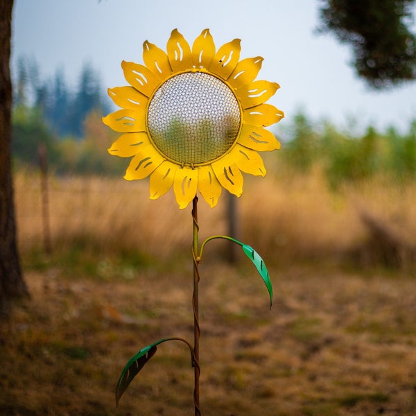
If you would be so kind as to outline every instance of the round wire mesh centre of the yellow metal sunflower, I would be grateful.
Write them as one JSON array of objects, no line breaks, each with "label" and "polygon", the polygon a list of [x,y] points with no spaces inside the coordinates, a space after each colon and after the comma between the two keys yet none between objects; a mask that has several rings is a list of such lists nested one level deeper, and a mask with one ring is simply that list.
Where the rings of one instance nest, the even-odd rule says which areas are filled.
[{"label": "round wire mesh centre of the yellow metal sunflower", "polygon": [[185,72],[155,92],[148,131],[161,153],[178,164],[207,164],[224,155],[239,134],[241,113],[232,90],[215,76]]}]

